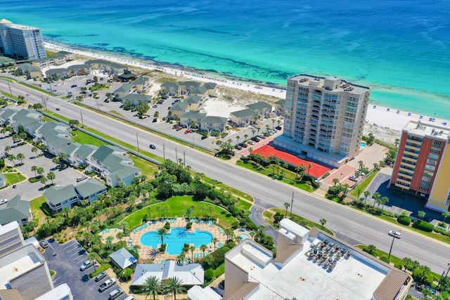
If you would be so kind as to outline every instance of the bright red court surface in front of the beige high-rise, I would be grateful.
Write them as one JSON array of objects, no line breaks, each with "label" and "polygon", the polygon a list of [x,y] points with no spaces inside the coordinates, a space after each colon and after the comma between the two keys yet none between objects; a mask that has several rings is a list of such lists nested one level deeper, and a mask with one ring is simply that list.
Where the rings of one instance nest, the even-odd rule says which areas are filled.
[{"label": "bright red court surface in front of the beige high-rise", "polygon": [[280,150],[276,150],[274,147],[269,145],[264,145],[260,148],[257,148],[252,151],[252,154],[260,154],[264,156],[266,159],[269,158],[270,155],[273,155],[276,158],[284,162],[288,162],[289,164],[293,164],[295,166],[300,166],[304,164],[304,167],[308,167],[308,164],[311,164],[312,167],[309,170],[309,174],[314,176],[315,178],[319,178],[326,174],[326,172],[330,171],[327,167],[323,167],[320,164],[316,164],[315,162],[309,162],[307,160],[296,157],[295,155],[289,154],[288,152],[283,152]]}]

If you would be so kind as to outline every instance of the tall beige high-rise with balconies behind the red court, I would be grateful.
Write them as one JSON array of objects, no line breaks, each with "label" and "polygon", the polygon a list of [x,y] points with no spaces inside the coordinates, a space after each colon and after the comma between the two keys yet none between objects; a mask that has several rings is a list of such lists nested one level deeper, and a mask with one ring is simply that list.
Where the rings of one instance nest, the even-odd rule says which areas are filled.
[{"label": "tall beige high-rise with balconies behind the red court", "polygon": [[337,77],[288,78],[284,133],[275,145],[340,167],[359,152],[370,93]]}]

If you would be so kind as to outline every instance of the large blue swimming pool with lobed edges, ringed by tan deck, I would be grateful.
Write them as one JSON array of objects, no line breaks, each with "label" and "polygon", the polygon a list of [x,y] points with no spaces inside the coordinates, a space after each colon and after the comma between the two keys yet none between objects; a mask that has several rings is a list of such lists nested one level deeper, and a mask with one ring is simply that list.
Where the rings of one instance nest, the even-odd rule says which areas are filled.
[{"label": "large blue swimming pool with lobed edges, ringed by tan deck", "polygon": [[[180,254],[185,243],[194,244],[194,247],[198,248],[202,244],[210,244],[211,241],[212,234],[210,232],[196,229],[195,233],[186,233],[184,227],[171,228],[170,233],[164,238],[168,254]],[[161,239],[155,231],[150,231],[141,237],[141,244],[156,248],[158,244],[161,244]]]}]

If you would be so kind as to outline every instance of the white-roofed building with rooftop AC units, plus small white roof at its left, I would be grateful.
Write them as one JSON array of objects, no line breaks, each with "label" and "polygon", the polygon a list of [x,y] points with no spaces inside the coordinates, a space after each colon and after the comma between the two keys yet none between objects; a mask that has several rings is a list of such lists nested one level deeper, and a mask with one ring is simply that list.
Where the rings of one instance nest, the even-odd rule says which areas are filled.
[{"label": "white-roofed building with rooftop AC units, plus small white roof at its left", "polygon": [[[322,230],[283,219],[276,258],[250,239],[226,253],[223,299],[394,300],[404,299],[412,282],[409,274]],[[190,289],[188,299],[210,292]]]}]

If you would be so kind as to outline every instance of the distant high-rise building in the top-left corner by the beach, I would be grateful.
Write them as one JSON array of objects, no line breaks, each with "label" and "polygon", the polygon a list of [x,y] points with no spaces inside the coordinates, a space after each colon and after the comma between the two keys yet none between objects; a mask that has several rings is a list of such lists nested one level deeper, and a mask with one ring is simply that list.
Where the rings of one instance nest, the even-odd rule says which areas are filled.
[{"label": "distant high-rise building in the top-left corner by the beach", "polygon": [[0,53],[15,58],[46,58],[41,29],[0,20]]}]

